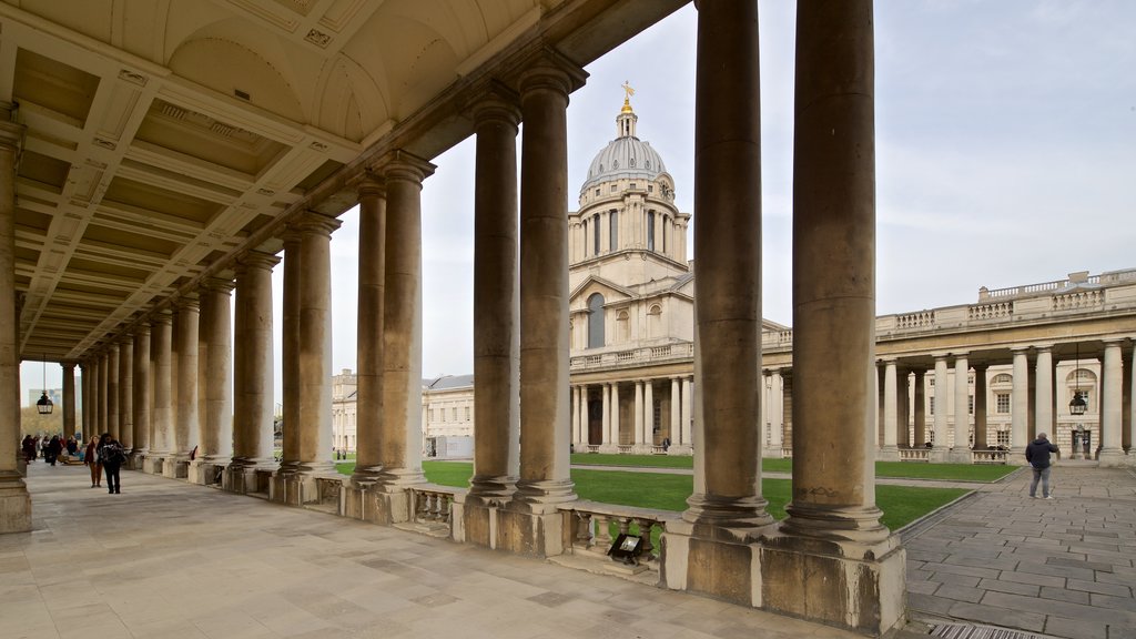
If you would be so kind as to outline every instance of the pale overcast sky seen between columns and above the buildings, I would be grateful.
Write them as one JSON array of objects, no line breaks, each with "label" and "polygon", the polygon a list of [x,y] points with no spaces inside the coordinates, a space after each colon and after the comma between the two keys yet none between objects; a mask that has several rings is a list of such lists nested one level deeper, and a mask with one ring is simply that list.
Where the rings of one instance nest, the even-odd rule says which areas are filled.
[{"label": "pale overcast sky seen between columns and above the buildings", "polygon": [[[759,6],[762,315],[790,324],[795,7]],[[696,229],[695,19],[687,6],[587,67],[568,108],[569,210],[616,135],[627,81],[638,136],[662,155]],[[1130,0],[876,2],[878,314],[1136,267],[1134,33]],[[435,158],[424,183],[425,376],[473,372],[473,142]],[[356,367],[357,230],[352,210],[332,241],[335,371]],[[25,388],[41,374],[25,364]]]}]

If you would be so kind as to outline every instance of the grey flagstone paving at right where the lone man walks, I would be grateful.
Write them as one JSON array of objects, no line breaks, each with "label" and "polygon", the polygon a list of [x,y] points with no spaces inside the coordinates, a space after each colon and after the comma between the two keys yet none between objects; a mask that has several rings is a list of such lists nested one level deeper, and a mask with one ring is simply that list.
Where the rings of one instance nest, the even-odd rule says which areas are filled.
[{"label": "grey flagstone paving at right where the lone man walks", "polygon": [[1136,638],[1136,474],[1060,462],[1053,499],[1030,499],[1029,479],[989,484],[904,538],[912,616]]}]

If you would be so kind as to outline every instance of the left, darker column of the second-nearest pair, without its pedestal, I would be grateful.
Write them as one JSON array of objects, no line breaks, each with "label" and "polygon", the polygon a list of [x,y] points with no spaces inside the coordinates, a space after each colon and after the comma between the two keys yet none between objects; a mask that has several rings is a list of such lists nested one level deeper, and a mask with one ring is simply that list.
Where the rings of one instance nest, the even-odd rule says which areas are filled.
[{"label": "left, darker column of the second-nearest pair, without its pedestal", "polygon": [[[474,106],[474,379],[478,383],[469,492],[475,500],[511,496],[520,472],[519,122],[517,96],[504,86],[493,85]],[[574,395],[571,440],[580,442],[579,387]],[[484,521],[486,529],[474,541],[488,545],[488,520],[477,521]]]}]

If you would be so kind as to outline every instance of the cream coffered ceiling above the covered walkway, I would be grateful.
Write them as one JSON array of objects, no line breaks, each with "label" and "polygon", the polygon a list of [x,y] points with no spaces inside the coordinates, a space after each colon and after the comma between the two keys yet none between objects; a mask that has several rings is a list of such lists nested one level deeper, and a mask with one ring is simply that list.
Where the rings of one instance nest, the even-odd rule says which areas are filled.
[{"label": "cream coffered ceiling above the covered walkway", "polygon": [[0,2],[22,357],[81,359],[237,252],[278,250],[290,215],[339,215],[375,158],[468,135],[469,99],[527,51],[583,66],[682,3]]}]

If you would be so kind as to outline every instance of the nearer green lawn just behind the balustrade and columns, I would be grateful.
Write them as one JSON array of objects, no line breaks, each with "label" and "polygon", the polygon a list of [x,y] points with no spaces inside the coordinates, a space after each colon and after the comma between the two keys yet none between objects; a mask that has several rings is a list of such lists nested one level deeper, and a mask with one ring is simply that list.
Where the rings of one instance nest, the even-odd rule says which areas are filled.
[{"label": "nearer green lawn just behind the balustrade and columns", "polygon": [[[336,466],[346,474],[351,472],[352,464]],[[433,483],[467,488],[474,465],[468,462],[423,462],[423,471]],[[686,498],[694,490],[694,478],[691,475],[576,468],[571,479],[580,499],[661,511],[685,511]],[[785,504],[790,500],[790,481],[766,479],[761,487],[762,495],[769,500],[769,514],[784,518]],[[966,492],[954,488],[877,486],[876,500],[884,511],[884,525],[896,530]]]}]

